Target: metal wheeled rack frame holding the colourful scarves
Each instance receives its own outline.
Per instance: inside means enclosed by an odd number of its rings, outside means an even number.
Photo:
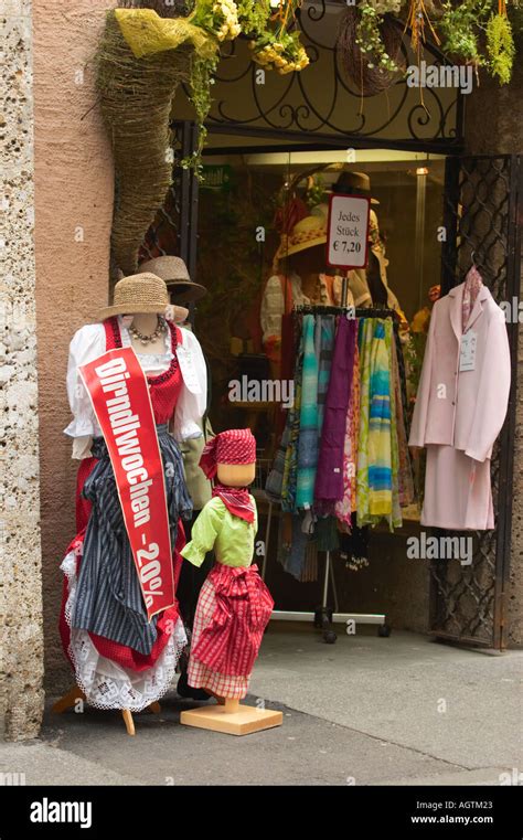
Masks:
[[[346,287],[343,289],[343,297],[346,300]],[[321,306],[313,304],[300,304],[292,309],[295,315],[349,315],[355,318],[393,318],[399,320],[394,309],[378,307],[348,307],[348,306]],[[270,539],[270,527],[273,520],[274,502],[269,500],[267,511],[267,525],[265,529],[265,554],[262,564],[262,578],[265,581],[267,568],[267,551]],[[331,584],[334,598],[334,608],[328,605],[329,602],[329,582]],[[386,624],[386,616],[383,613],[339,613],[338,612],[338,592],[334,580],[334,572],[331,562],[331,552],[325,552],[325,571],[323,575],[323,593],[321,605],[313,613],[289,612],[285,609],[274,609],[271,618],[279,621],[308,621],[312,620],[314,627],[323,630],[323,639],[328,645],[333,645],[337,640],[337,634],[332,629],[332,624],[345,624],[349,626],[357,624],[377,625],[378,635],[386,637],[391,635],[391,628]]]

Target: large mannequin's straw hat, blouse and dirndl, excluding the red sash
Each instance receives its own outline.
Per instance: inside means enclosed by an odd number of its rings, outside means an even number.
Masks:
[[[74,419],[65,432],[73,437],[73,457],[84,459],[78,470],[84,503],[78,508],[78,533],[61,566],[62,641],[87,702],[126,710],[128,730],[130,712],[150,706],[169,689],[186,639],[175,598],[152,616],[146,609],[114,468],[78,368],[108,350],[132,348],[147,376],[175,586],[184,544],[181,519],[192,511],[175,438],[201,435],[206,371],[195,337],[163,319],[168,304],[160,278],[127,277],[116,285],[115,304],[100,312],[100,322],[82,327],[70,348],[67,391]]]

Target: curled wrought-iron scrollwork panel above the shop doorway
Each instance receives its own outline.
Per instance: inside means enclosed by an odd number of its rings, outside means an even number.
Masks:
[[[340,0],[306,0],[298,12],[298,25],[310,65],[286,76],[269,72],[264,84],[258,84],[259,65],[252,61],[246,39],[225,44],[206,121],[211,136],[244,135],[269,143],[278,139],[302,143],[307,138],[318,148],[351,145],[459,152],[463,117],[459,89],[426,87],[423,104],[420,88],[409,87],[405,78],[398,78],[378,97],[362,96],[349,81],[337,45],[345,9]],[[425,53],[430,64],[446,63],[431,43],[426,44]],[[404,35],[402,54],[406,66],[417,64],[408,34]],[[188,97],[186,86],[183,89]],[[380,107],[375,107],[376,102]],[[224,152],[228,147],[206,151],[218,149]]]

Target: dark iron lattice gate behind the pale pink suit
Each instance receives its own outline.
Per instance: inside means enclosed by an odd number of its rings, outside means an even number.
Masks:
[[[494,300],[519,302],[521,194],[521,161],[515,156],[447,160],[441,294],[465,280],[473,256]],[[508,331],[512,390],[508,417],[491,460],[495,527],[473,534],[471,565],[433,562],[430,568],[433,635],[497,649],[506,647],[517,319],[510,320]],[[459,535],[470,536],[470,532]]]

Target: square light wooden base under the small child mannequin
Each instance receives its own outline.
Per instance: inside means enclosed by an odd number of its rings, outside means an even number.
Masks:
[[[252,732],[281,726],[284,713],[242,705],[239,700],[227,698],[223,705],[218,703],[182,712],[180,723],[185,726],[223,732],[226,735],[249,735]]]

